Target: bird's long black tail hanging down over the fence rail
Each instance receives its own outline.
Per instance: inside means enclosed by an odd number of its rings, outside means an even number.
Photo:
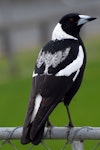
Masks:
[[[57,101],[53,104],[53,100],[53,98],[48,99],[48,101],[47,99],[43,100],[43,102],[45,102],[45,105],[43,105],[43,103],[41,104],[41,107],[38,110],[33,122],[28,124],[27,120],[29,120],[29,118],[26,118],[26,126],[24,125],[23,134],[21,138],[22,144],[28,144],[29,142],[31,142],[34,145],[38,145],[41,142],[41,140],[43,139],[44,128],[48,116],[58,104]]]

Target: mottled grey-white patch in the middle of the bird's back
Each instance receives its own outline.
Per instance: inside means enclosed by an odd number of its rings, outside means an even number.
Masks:
[[[42,64],[45,65],[44,74],[48,74],[48,69],[50,66],[56,68],[61,62],[63,62],[70,52],[70,47],[66,48],[65,51],[58,51],[54,54],[50,52],[42,52],[39,53],[37,59],[37,68],[40,68]]]

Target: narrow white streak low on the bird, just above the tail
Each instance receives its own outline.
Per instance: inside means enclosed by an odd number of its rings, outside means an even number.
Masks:
[[[35,99],[35,105],[34,105],[34,110],[32,113],[31,122],[34,121],[34,118],[35,118],[35,116],[38,112],[38,109],[40,107],[41,101],[42,101],[42,96],[40,94],[37,94],[36,99]]]

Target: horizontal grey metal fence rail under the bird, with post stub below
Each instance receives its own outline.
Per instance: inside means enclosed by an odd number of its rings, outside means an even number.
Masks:
[[[22,127],[0,127],[0,140],[20,139],[21,135]],[[52,127],[51,131],[45,128],[44,139],[66,139],[68,142],[62,150],[69,142],[72,143],[72,150],[83,150],[84,140],[100,140],[100,127]]]

